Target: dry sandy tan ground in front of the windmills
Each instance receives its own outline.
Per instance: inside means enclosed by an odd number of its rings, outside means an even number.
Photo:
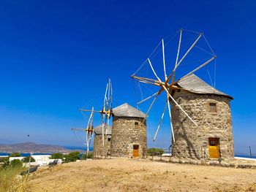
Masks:
[[[40,168],[29,191],[256,191],[256,169],[102,159]]]

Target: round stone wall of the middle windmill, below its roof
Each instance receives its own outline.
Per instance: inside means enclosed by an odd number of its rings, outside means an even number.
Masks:
[[[135,126],[135,122],[138,123]],[[133,145],[139,145],[139,157],[146,156],[146,122],[142,118],[113,118],[111,156],[132,157]]]

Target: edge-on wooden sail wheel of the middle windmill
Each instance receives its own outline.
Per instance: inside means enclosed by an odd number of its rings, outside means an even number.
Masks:
[[[104,135],[107,134],[109,124],[110,124],[110,118],[112,115],[112,108],[113,108],[113,89],[111,80],[108,80],[106,90],[105,90],[105,96],[103,101],[103,107],[102,110],[86,110],[86,109],[80,109],[81,112],[99,112],[101,115],[101,126],[102,126],[102,147],[104,147]]]

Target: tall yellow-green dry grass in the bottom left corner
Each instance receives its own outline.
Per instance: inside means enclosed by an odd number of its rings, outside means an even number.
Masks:
[[[1,167],[0,168],[0,192],[26,191],[28,177],[20,176],[23,167]]]

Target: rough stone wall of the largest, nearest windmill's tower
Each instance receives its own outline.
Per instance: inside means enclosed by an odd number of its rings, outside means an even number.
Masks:
[[[222,158],[233,158],[234,142],[230,99],[225,96],[179,91],[174,99],[195,120],[195,126],[176,104],[172,104],[173,156],[178,158],[208,158],[208,138],[219,138]],[[209,112],[209,103],[217,104],[217,112]]]

